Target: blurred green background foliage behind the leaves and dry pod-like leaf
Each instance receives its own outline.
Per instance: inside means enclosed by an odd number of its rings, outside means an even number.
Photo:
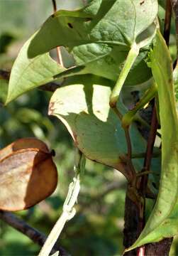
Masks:
[[[75,9],[84,1],[57,1],[58,8]],[[50,0],[0,1],[0,68],[11,70],[26,38],[50,14]],[[3,47],[2,47],[3,46]],[[67,58],[67,56],[65,56]],[[0,80],[0,102],[6,99],[6,80]],[[43,233],[50,232],[62,213],[62,204],[74,176],[74,145],[67,129],[48,117],[50,92],[33,90],[7,107],[0,106],[0,148],[22,137],[37,137],[55,149],[59,173],[55,193],[37,206],[16,213]],[[87,160],[77,215],[62,230],[59,242],[72,255],[121,255],[125,178],[118,171]],[[37,255],[40,247],[0,221],[0,255]]]

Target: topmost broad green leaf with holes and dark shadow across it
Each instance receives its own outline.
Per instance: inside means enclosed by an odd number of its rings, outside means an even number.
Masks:
[[[78,73],[92,73],[117,80],[133,44],[148,46],[155,35],[157,0],[91,1],[78,11],[57,11],[23,46],[13,65],[6,104],[19,95],[65,71],[48,55],[56,46],[65,46],[76,65],[85,65]],[[130,70],[127,85],[148,80],[147,52],[140,53]],[[67,74],[66,74],[67,75]]]

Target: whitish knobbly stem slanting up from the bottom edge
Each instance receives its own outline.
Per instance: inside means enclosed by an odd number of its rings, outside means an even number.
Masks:
[[[77,201],[77,197],[79,195],[80,189],[80,181],[79,175],[74,178],[73,182],[69,184],[69,191],[67,193],[67,198],[65,199],[65,203],[63,206],[62,215],[55,223],[55,226],[52,228],[50,235],[48,235],[45,244],[43,245],[42,249],[40,250],[39,256],[48,256],[52,250],[52,247],[55,245],[57,238],[59,238],[62,229],[65,226],[65,223],[72,219],[76,213],[74,208],[74,204]]]

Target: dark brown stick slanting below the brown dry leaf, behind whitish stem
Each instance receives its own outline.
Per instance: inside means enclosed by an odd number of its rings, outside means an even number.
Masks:
[[[0,219],[4,220],[4,222],[11,225],[11,227],[23,233],[28,238],[30,238],[30,240],[40,246],[42,246],[47,239],[47,237],[43,233],[40,233],[35,228],[30,227],[30,225],[28,225],[24,220],[17,218],[16,215],[12,213],[0,210]],[[61,246],[55,245],[52,249],[52,253],[55,253],[56,251],[60,251],[61,256],[69,256],[69,253],[66,252],[66,250]]]

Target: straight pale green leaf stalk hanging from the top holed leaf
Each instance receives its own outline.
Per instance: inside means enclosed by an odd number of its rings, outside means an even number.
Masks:
[[[133,66],[133,63],[135,62],[135,59],[138,57],[140,48],[136,43],[133,43],[133,46],[129,50],[128,56],[126,58],[126,62],[123,65],[123,69],[121,70],[121,73],[118,77],[118,80],[116,82],[116,85],[113,87],[113,91],[111,92],[111,97],[110,97],[110,106],[111,107],[116,107],[116,103],[118,101],[118,96],[121,92],[121,89],[123,87],[123,83],[125,82],[128,73],[130,69]]]

